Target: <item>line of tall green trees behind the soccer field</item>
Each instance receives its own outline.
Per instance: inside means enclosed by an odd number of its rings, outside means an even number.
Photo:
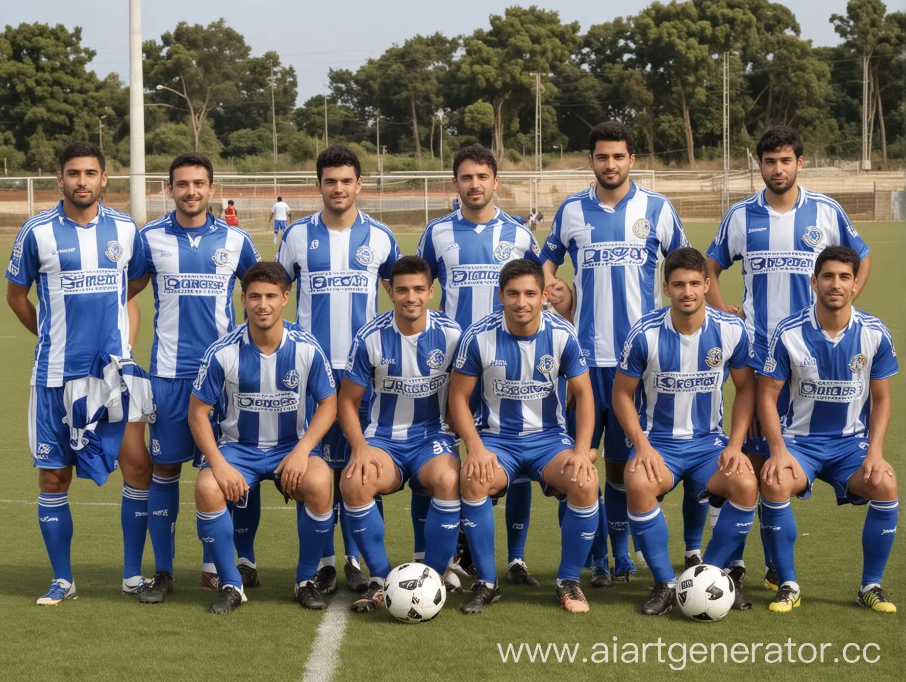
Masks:
[[[326,102],[321,94],[302,107],[279,53],[252,56],[224,19],[182,22],[142,46],[148,167],[198,149],[238,170],[271,170],[276,130],[278,167],[299,168],[323,149],[325,120],[326,141],[372,154],[380,144],[399,169],[439,168],[441,157],[448,167],[476,141],[518,162],[535,151],[538,82],[545,153],[582,151],[595,123],[618,119],[650,164],[694,167],[722,153],[725,60],[734,156],[784,123],[812,155],[859,158],[867,83],[875,158],[906,158],[906,13],[850,0],[828,21],[842,39],[834,47],[803,40],[795,14],[767,0],[654,2],[584,34],[554,10],[514,6],[492,14],[490,28],[415,35],[355,71],[331,69]],[[114,164],[129,165],[128,88],[115,73],[99,79],[94,56],[79,27],[5,27],[0,157],[9,168],[51,169],[72,139],[102,140]]]

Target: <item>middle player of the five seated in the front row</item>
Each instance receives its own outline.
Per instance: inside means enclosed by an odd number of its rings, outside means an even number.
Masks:
[[[546,495],[565,495],[556,594],[564,609],[589,610],[579,574],[598,527],[598,474],[589,458],[593,396],[573,325],[543,310],[541,266],[525,258],[500,271],[503,310],[479,320],[459,341],[450,382],[450,414],[466,444],[460,477],[462,525],[477,568],[463,613],[480,613],[500,599],[494,559],[491,495],[522,476]],[[481,405],[469,400],[478,380]],[[564,381],[575,395],[577,437],[564,423]]]

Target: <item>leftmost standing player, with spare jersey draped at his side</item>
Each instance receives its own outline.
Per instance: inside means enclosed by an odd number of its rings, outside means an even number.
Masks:
[[[57,185],[63,200],[27,220],[16,235],[6,268],[6,302],[26,330],[38,337],[34,351],[28,441],[38,468],[38,524],[53,567],[50,590],[38,604],[75,599],[70,546],[69,486],[76,456],[70,447],[64,385],[89,375],[100,352],[130,358],[127,279],[144,274],[139,229],[130,216],[98,200],[107,185],[104,155],[91,142],[73,142],[60,155]],[[28,300],[37,283],[38,306]],[[108,430],[109,429],[109,430]],[[120,450],[123,476],[122,590],[140,590],[141,555],[148,528],[151,463],[144,425],[101,422],[95,433],[104,450]],[[119,432],[119,437],[114,434]],[[112,462],[108,463],[112,466]],[[76,466],[77,474],[82,473]]]

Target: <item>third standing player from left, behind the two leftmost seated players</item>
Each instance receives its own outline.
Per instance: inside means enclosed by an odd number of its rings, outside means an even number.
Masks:
[[[277,250],[277,262],[296,286],[296,322],[312,331],[333,366],[333,377],[342,385],[352,339],[378,314],[379,281],[387,288],[390,268],[400,258],[400,246],[390,228],[355,206],[361,192],[361,165],[348,147],[324,149],[315,162],[316,187],[323,210],[289,226]],[[366,391],[360,416],[367,414]],[[339,424],[323,442],[323,457],[333,469],[342,469],[349,458],[349,443]],[[334,502],[346,557],[343,571],[353,591],[368,588],[359,567],[359,550],[346,524],[340,504],[340,478],[334,481]],[[323,593],[336,590],[333,534],[324,550],[316,582]]]

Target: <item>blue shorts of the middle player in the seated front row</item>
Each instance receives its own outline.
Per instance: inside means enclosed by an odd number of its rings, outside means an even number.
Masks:
[[[541,484],[545,495],[554,495],[545,484],[545,466],[564,450],[575,447],[573,438],[558,428],[529,436],[508,436],[482,433],[481,442],[497,456],[497,462],[506,472],[506,485],[519,478],[530,478]]]

